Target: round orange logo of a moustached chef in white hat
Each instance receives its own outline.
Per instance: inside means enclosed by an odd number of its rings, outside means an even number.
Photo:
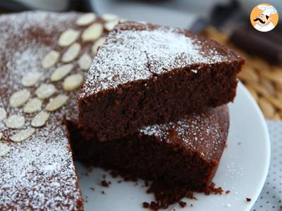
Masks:
[[[278,12],[270,4],[259,4],[252,9],[250,20],[252,26],[259,32],[269,32],[278,23]]]

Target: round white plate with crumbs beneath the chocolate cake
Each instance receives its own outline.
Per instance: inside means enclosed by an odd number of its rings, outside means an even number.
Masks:
[[[185,208],[171,205],[168,210],[250,210],[257,200],[264,181],[270,160],[270,143],[264,117],[255,100],[242,84],[238,86],[235,103],[229,105],[231,128],[228,135],[228,146],[223,153],[219,169],[214,177],[216,186],[222,186],[231,193],[221,196],[204,196],[195,194],[197,200],[183,199],[188,203]],[[118,183],[104,170],[94,169],[88,176],[85,168],[78,163],[78,175],[82,196],[87,199],[85,210],[145,210],[142,202],[154,200],[152,195],[142,188],[143,181],[135,186],[134,182]],[[102,175],[111,181],[109,188],[100,185]],[[94,188],[92,191],[90,187]],[[105,191],[106,194],[101,192]],[[247,203],[245,198],[251,198]],[[190,207],[192,203],[193,207]]]

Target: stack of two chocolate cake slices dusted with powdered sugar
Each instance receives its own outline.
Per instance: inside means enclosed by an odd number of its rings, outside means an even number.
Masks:
[[[79,124],[68,124],[75,155],[152,181],[157,207],[207,191],[242,65],[231,49],[185,30],[118,24],[80,90]]]

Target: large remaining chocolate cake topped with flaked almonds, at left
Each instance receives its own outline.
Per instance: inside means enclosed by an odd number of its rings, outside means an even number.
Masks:
[[[78,119],[77,90],[104,23],[94,14],[0,15],[0,210],[83,210],[63,120]],[[91,24],[100,30],[85,32]]]

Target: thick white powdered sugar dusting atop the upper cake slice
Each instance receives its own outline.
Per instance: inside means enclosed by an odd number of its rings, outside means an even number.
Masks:
[[[203,50],[203,44],[183,30],[120,23],[94,58],[80,98],[174,68],[226,60],[212,46]]]

